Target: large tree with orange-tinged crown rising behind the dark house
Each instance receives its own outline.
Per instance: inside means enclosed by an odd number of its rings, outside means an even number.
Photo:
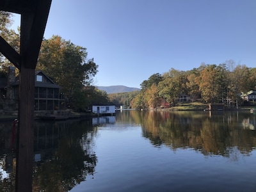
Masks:
[[[74,45],[60,36],[52,36],[42,42],[37,70],[54,78],[62,86],[62,92],[72,106],[74,93],[79,93],[84,85],[92,83],[98,65],[86,60],[86,48]]]

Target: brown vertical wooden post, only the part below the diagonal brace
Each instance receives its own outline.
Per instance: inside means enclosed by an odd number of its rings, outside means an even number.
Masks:
[[[20,68],[16,191],[32,191],[35,69]]]

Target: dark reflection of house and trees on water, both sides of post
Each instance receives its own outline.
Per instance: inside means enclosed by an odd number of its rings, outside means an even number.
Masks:
[[[90,120],[35,122],[33,191],[68,191],[93,175],[97,164]],[[12,122],[0,124],[0,189],[15,191]]]

